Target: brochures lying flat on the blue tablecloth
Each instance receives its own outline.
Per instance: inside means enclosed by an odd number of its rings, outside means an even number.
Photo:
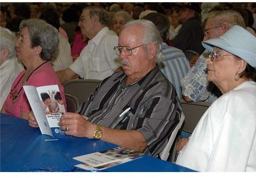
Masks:
[[[119,146],[103,152],[77,156],[73,159],[83,162],[82,164],[75,165],[81,169],[102,170],[137,158],[142,158],[141,155],[143,155],[143,153]]]

